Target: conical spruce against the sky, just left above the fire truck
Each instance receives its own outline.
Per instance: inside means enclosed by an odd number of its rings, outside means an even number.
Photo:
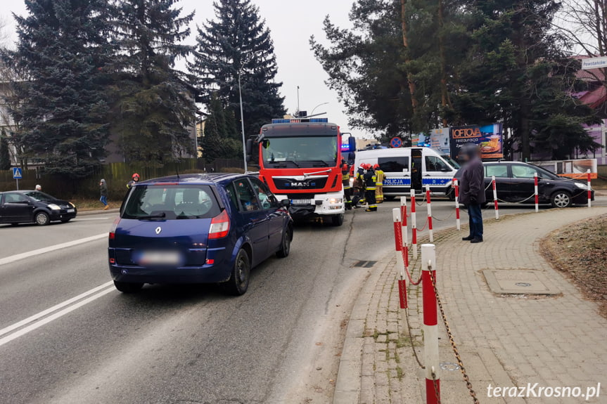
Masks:
[[[285,110],[275,82],[277,67],[270,32],[250,0],[219,0],[216,20],[198,28],[195,60],[189,65],[207,105],[212,93],[235,112],[240,127],[238,76],[241,76],[245,133],[259,133]]]

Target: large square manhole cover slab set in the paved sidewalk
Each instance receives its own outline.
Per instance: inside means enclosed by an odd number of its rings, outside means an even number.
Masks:
[[[532,269],[485,269],[485,280],[497,294],[561,294],[543,271]]]

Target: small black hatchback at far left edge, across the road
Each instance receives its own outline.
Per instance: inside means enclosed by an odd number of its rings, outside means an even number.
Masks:
[[[0,223],[63,223],[74,219],[77,209],[72,202],[58,200],[40,191],[19,190],[0,193]]]

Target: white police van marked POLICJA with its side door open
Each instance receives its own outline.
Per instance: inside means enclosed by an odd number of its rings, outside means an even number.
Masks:
[[[385,172],[383,195],[391,199],[426,190],[437,195],[452,195],[452,180],[459,164],[448,155],[430,148],[397,148],[362,150],[356,152],[354,171],[360,164],[379,164]]]

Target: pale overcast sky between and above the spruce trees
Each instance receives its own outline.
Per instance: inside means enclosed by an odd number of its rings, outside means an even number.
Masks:
[[[16,39],[15,25],[12,13],[25,15],[25,3],[23,0],[3,0],[2,17],[9,23],[8,30]],[[327,112],[326,117],[331,122],[341,126],[342,131],[351,131],[356,136],[369,136],[357,129],[350,129],[347,125],[347,117],[343,113],[343,105],[338,102],[337,94],[327,88],[324,81],[327,74],[314,58],[309,48],[309,37],[313,34],[321,42],[326,41],[322,30],[322,22],[325,15],[330,15],[331,20],[339,27],[350,27],[348,13],[352,6],[352,0],[307,0],[307,1],[285,1],[285,0],[252,0],[252,3],[260,8],[260,15],[266,20],[267,27],[271,31],[276,48],[276,59],[278,61],[279,73],[276,79],[283,82],[281,89],[285,97],[285,106],[288,112],[295,112],[298,107],[298,91],[300,86],[300,108],[308,113],[321,103],[315,110]],[[178,6],[185,13],[196,10],[192,23],[192,35],[187,41],[194,44],[196,35],[196,24],[215,17],[213,13],[212,0],[181,0]]]

